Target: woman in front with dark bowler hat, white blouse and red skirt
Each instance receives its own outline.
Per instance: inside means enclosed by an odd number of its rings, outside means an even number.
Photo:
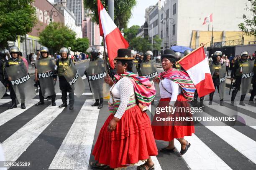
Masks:
[[[110,116],[100,130],[92,155],[94,168],[122,168],[146,160],[138,170],[154,170],[150,156],[158,154],[151,123],[145,107],[151,104],[156,90],[146,77],[132,72],[131,50],[119,49],[115,82],[105,77],[110,87]],[[140,106],[140,107],[139,107]]]

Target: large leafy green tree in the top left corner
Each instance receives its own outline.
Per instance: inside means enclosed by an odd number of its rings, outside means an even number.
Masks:
[[[24,40],[36,24],[34,0],[0,0],[0,47],[8,47],[8,41]]]

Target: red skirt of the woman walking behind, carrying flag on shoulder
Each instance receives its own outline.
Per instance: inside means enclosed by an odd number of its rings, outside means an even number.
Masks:
[[[161,99],[157,107],[169,106],[170,100],[170,98]],[[175,102],[175,107],[190,108],[189,103],[186,101],[182,94],[178,95],[177,101]],[[184,138],[184,136],[191,136],[192,133],[195,133],[193,121],[175,122],[175,117],[177,116],[191,117],[192,115],[190,114],[190,112],[174,112],[174,114],[170,116],[174,117],[174,121],[172,121],[171,123],[168,121],[162,121],[160,125],[159,122],[156,121],[156,117],[168,117],[168,115],[166,115],[165,112],[161,112],[159,115],[154,115],[151,127],[153,130],[154,138],[156,140],[171,141],[174,140],[174,138]]]

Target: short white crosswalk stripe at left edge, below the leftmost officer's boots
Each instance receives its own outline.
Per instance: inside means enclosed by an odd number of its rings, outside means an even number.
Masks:
[[[17,108],[10,109],[10,110],[5,110],[0,114],[0,126],[8,122],[9,120],[13,119],[14,117],[20,115],[21,113],[25,112],[28,110],[30,107],[35,105],[39,100],[34,99],[30,100],[28,103],[26,103],[26,109],[21,109],[19,106],[20,104],[17,105]]]

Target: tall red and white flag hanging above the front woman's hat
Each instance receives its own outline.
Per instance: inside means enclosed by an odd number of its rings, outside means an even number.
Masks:
[[[112,68],[114,58],[117,57],[117,51],[120,48],[128,48],[129,43],[125,40],[120,30],[117,28],[113,20],[108,15],[100,0],[97,0],[98,14],[100,23],[100,36],[104,36],[105,44],[108,49],[109,63]]]

